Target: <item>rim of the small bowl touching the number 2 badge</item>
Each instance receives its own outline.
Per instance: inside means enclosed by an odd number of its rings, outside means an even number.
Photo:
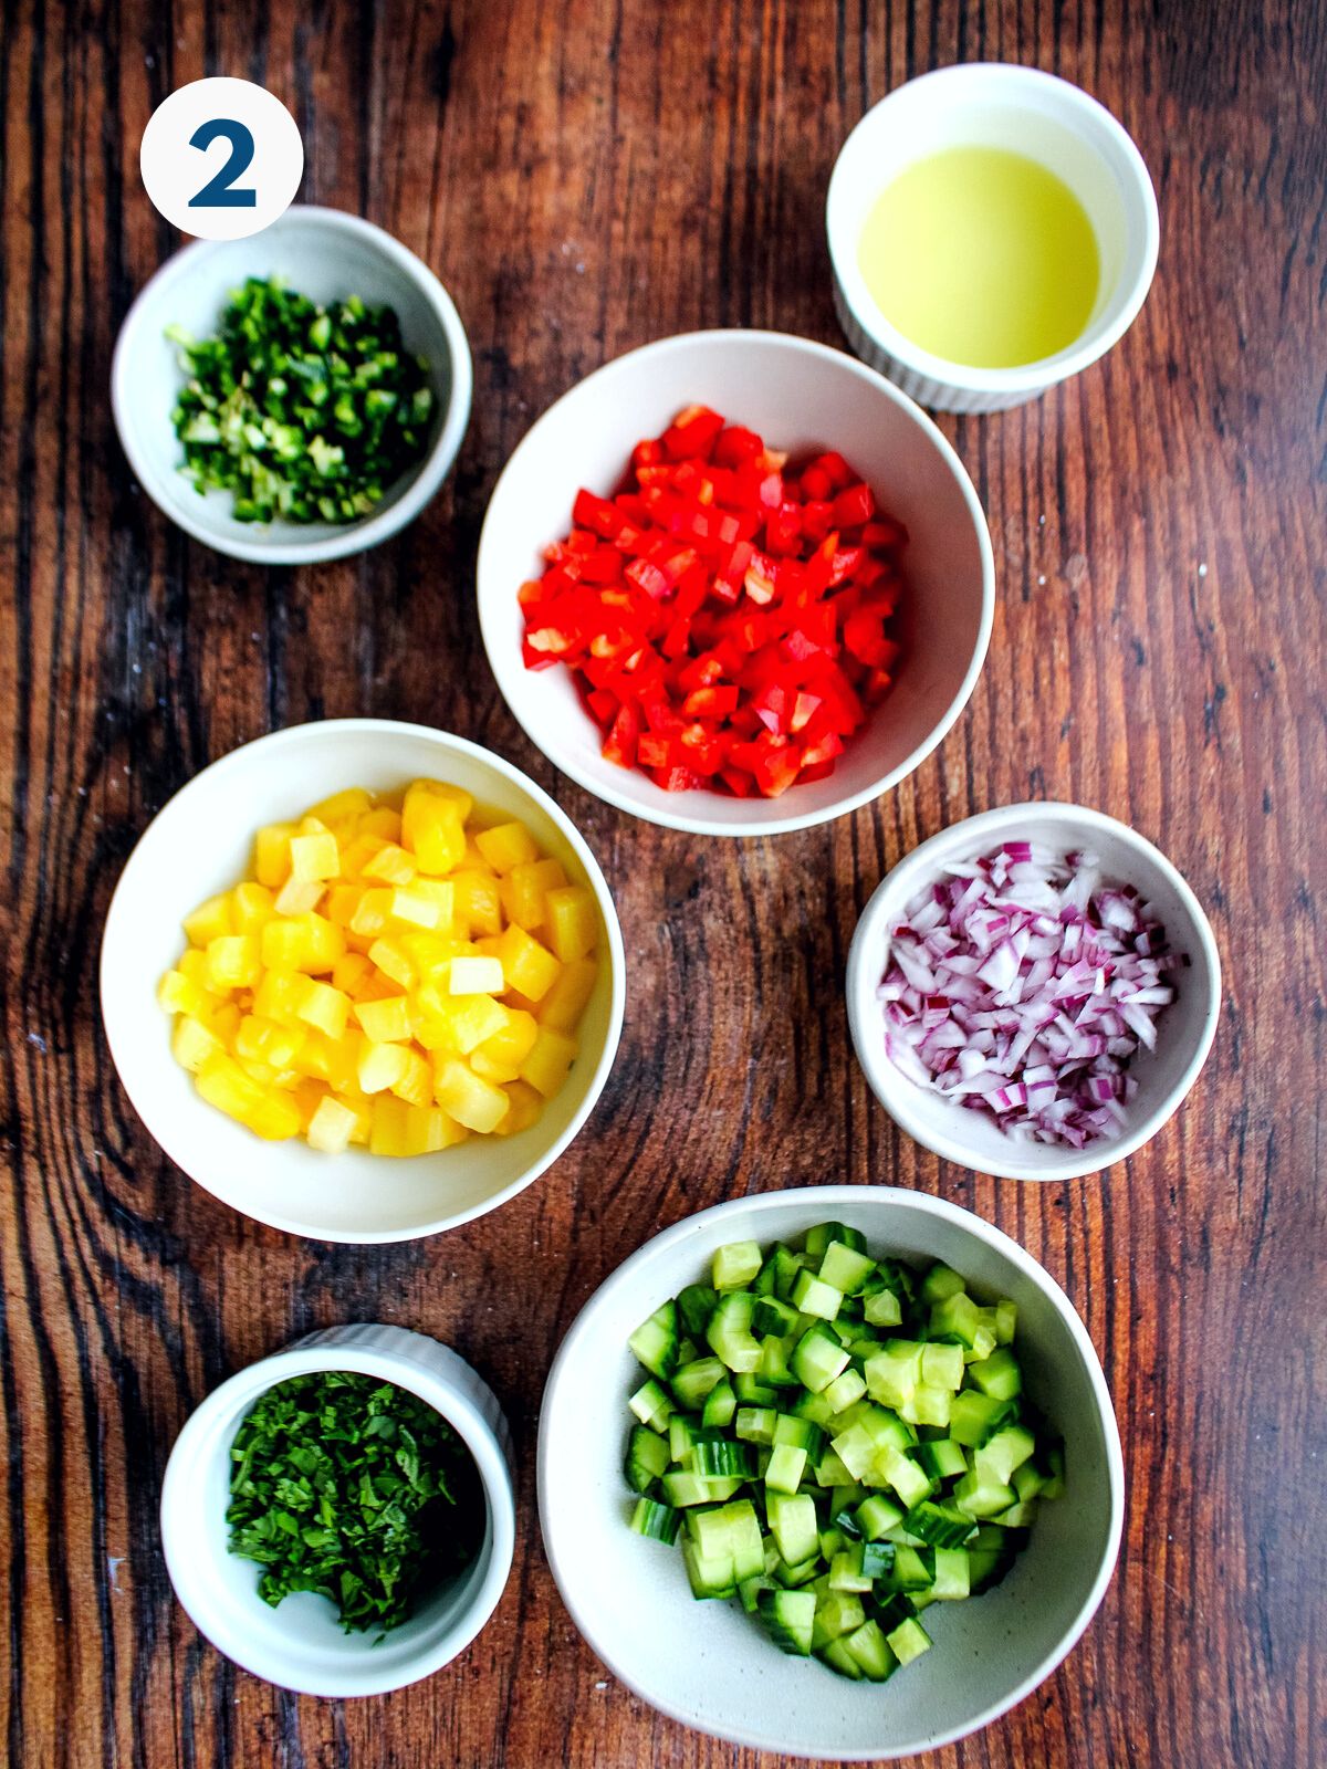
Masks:
[[[223,248],[230,249],[239,244],[237,241],[196,239],[173,251],[166,262],[161,264],[152,276],[149,276],[120,322],[120,331],[115,338],[115,350],[111,354],[110,393],[115,433],[120,439],[120,448],[126,453],[129,469],[163,517],[173,522],[179,529],[184,529],[184,532],[193,536],[193,540],[202,541],[205,547],[211,547],[214,552],[225,554],[230,559],[244,559],[253,564],[294,566],[320,564],[329,559],[345,559],[350,554],[368,552],[370,547],[377,547],[380,541],[389,540],[407,524],[414,522],[421,509],[437,494],[460,451],[460,444],[471,421],[474,368],[471,363],[471,347],[465,338],[465,327],[462,325],[451,295],[428,269],[423,258],[387,234],[386,228],[377,226],[373,221],[366,221],[363,216],[350,214],[345,209],[329,209],[320,203],[290,203],[290,207],[271,223],[271,228],[264,228],[264,234],[269,234],[272,228],[285,226],[295,230],[315,226],[329,228],[331,232],[350,235],[359,248],[368,248],[370,251],[377,251],[380,257],[391,260],[391,264],[419,288],[442,327],[442,334],[448,343],[448,356],[451,359],[451,394],[448,398],[448,409],[437,439],[428,453],[419,460],[416,478],[405,486],[400,497],[391,499],[373,515],[361,517],[357,522],[347,522],[336,534],[329,534],[322,540],[290,540],[278,543],[271,538],[249,538],[255,532],[253,525],[235,522],[234,518],[230,518],[230,527],[235,532],[219,536],[198,522],[188,504],[177,508],[165,497],[165,494],[159,495],[161,476],[156,465],[138,448],[134,426],[124,416],[133,403],[133,347],[142,325],[145,324],[147,299],[149,295],[161,294],[161,290],[168,290],[177,281],[184,281],[200,264],[205,262],[205,258]],[[163,414],[163,423],[170,423],[168,412]]]

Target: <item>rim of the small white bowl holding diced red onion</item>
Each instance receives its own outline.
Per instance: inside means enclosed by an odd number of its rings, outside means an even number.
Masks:
[[[947,1136],[943,1130],[934,1129],[934,1125],[913,1111],[909,1095],[913,1083],[908,1083],[908,1077],[901,1076],[894,1063],[890,1063],[890,1060],[883,1054],[883,1044],[878,1049],[869,1037],[867,1014],[876,1007],[874,987],[879,978],[872,980],[869,976],[867,952],[878,946],[878,929],[879,922],[885,920],[886,911],[899,907],[901,902],[906,902],[908,897],[911,897],[925,881],[925,877],[934,874],[941,862],[941,854],[947,854],[952,849],[963,851],[970,846],[973,851],[980,851],[987,840],[1005,833],[1010,826],[1017,828],[1024,824],[1028,817],[1046,816],[1051,819],[1074,817],[1079,823],[1086,823],[1102,835],[1109,835],[1124,842],[1125,847],[1141,854],[1157,869],[1157,872],[1161,872],[1178,897],[1180,907],[1189,918],[1193,941],[1201,948],[1207,962],[1207,1008],[1193,1056],[1185,1063],[1178,1081],[1161,1104],[1155,1106],[1147,1116],[1139,1118],[1132,1129],[1125,1130],[1118,1137],[1095,1145],[1090,1143],[1081,1150],[1067,1150],[1060,1160],[1042,1164],[1019,1160],[1014,1153],[1019,1145],[1010,1143],[1009,1159],[1001,1160],[998,1168],[993,1168],[984,1162],[975,1162],[973,1152],[964,1143],[957,1137]],[[1136,1153],[1143,1143],[1148,1143],[1180,1109],[1208,1058],[1217,1022],[1221,1019],[1221,952],[1216,943],[1216,934],[1212,932],[1212,923],[1207,918],[1207,911],[1194,895],[1193,886],[1178,867],[1168,860],[1166,854],[1162,854],[1161,849],[1155,847],[1145,835],[1139,835],[1138,830],[1131,828],[1127,823],[1109,817],[1104,810],[1093,810],[1088,805],[1074,805],[1067,800],[1026,800],[1019,805],[996,805],[991,810],[978,812],[975,817],[963,817],[959,823],[950,823],[943,830],[936,830],[934,835],[918,842],[911,853],[904,854],[902,860],[899,860],[899,863],[885,874],[867,899],[867,904],[858,916],[856,929],[853,930],[853,941],[848,950],[844,989],[848,998],[848,1026],[853,1037],[853,1051],[856,1053],[858,1065],[862,1067],[862,1074],[865,1076],[871,1091],[876,1095],[890,1118],[894,1118],[899,1129],[906,1130],[913,1141],[922,1145],[922,1148],[929,1148],[931,1153],[940,1155],[941,1160],[952,1160],[971,1173],[991,1173],[1000,1180],[1040,1180],[1053,1183],[1058,1180],[1081,1180],[1092,1173],[1101,1173],[1104,1168],[1115,1166],[1116,1160],[1125,1160],[1129,1155]]]

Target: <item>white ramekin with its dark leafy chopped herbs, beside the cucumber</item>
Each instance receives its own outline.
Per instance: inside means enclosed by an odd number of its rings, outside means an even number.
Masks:
[[[239,1371],[166,1465],[175,1596],[244,1670],[384,1695],[449,1663],[515,1544],[511,1438],[487,1383],[402,1327],[333,1327]]]

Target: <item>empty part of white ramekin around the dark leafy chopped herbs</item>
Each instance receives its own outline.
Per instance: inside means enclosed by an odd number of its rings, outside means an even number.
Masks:
[[[352,1369],[418,1394],[464,1438],[483,1484],[488,1516],[474,1560],[380,1640],[343,1633],[334,1606],[313,1592],[271,1608],[258,1596],[262,1569],[226,1548],[235,1433],[260,1394],[313,1369]],[[386,1695],[464,1652],[497,1608],[515,1546],[511,1433],[488,1383],[437,1339],[329,1327],[241,1369],[186,1421],[161,1486],[161,1544],[175,1596],[218,1652],[301,1695]]]

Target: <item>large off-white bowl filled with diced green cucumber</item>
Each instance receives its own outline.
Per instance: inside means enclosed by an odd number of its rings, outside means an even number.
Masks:
[[[800,1757],[906,1757],[1023,1700],[1115,1569],[1120,1435],[1072,1304],[938,1198],[821,1185],[656,1235],[568,1332],[540,1521],[646,1702]]]

